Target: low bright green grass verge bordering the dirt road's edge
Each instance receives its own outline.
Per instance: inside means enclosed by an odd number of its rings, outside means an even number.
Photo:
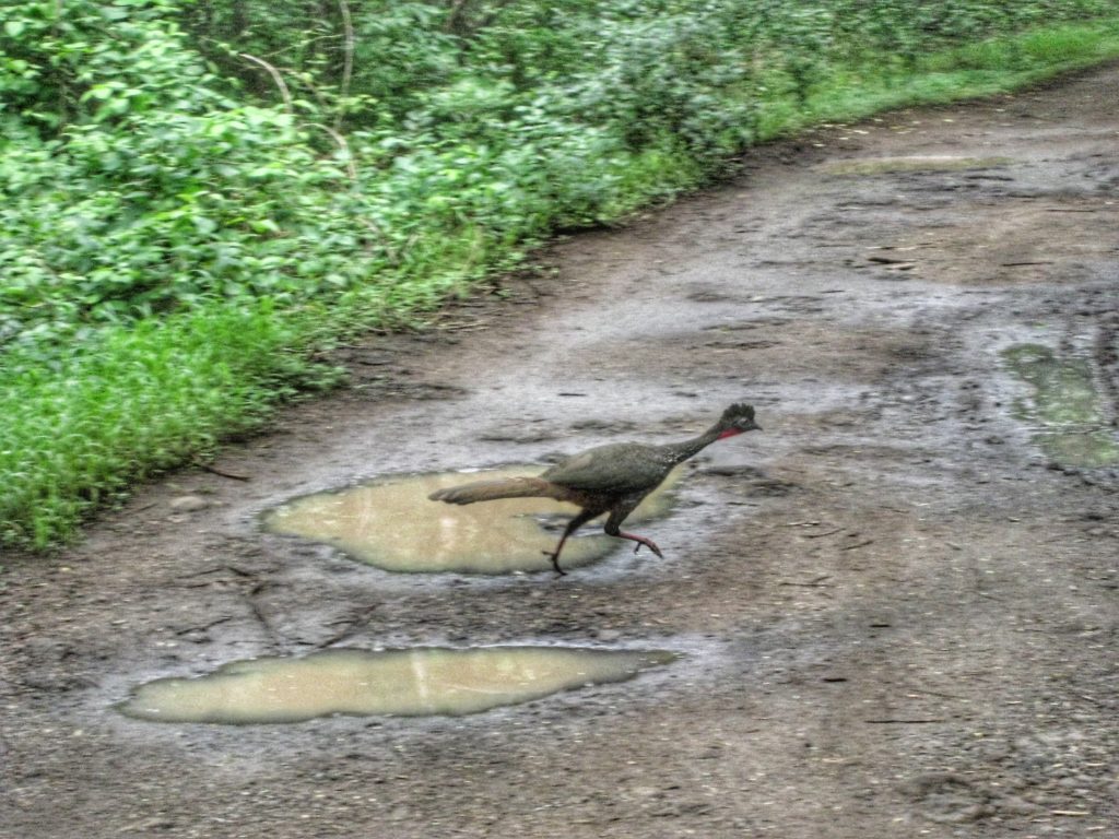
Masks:
[[[888,109],[989,96],[1119,57],[1119,19],[1037,29],[955,47],[916,66],[861,60],[836,67],[801,100],[774,79],[759,103],[759,140]],[[709,177],[698,162],[651,149],[619,173],[605,214],[622,218],[653,197]],[[10,349],[0,370],[0,545],[48,548],[135,481],[258,428],[270,411],[337,375],[308,359],[361,329],[399,323],[530,243],[464,228],[412,243],[374,291],[326,305],[279,310],[213,303],[187,315],[107,327],[73,355]]]

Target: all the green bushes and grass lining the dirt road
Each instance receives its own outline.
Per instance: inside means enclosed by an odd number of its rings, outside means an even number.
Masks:
[[[0,545],[751,144],[1116,56],[1119,0],[11,0]]]

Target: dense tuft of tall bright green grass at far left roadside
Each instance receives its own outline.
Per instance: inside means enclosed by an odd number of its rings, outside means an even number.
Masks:
[[[46,547],[129,480],[246,431],[322,371],[267,305],[109,327],[49,365],[22,349],[0,380],[0,544]]]

